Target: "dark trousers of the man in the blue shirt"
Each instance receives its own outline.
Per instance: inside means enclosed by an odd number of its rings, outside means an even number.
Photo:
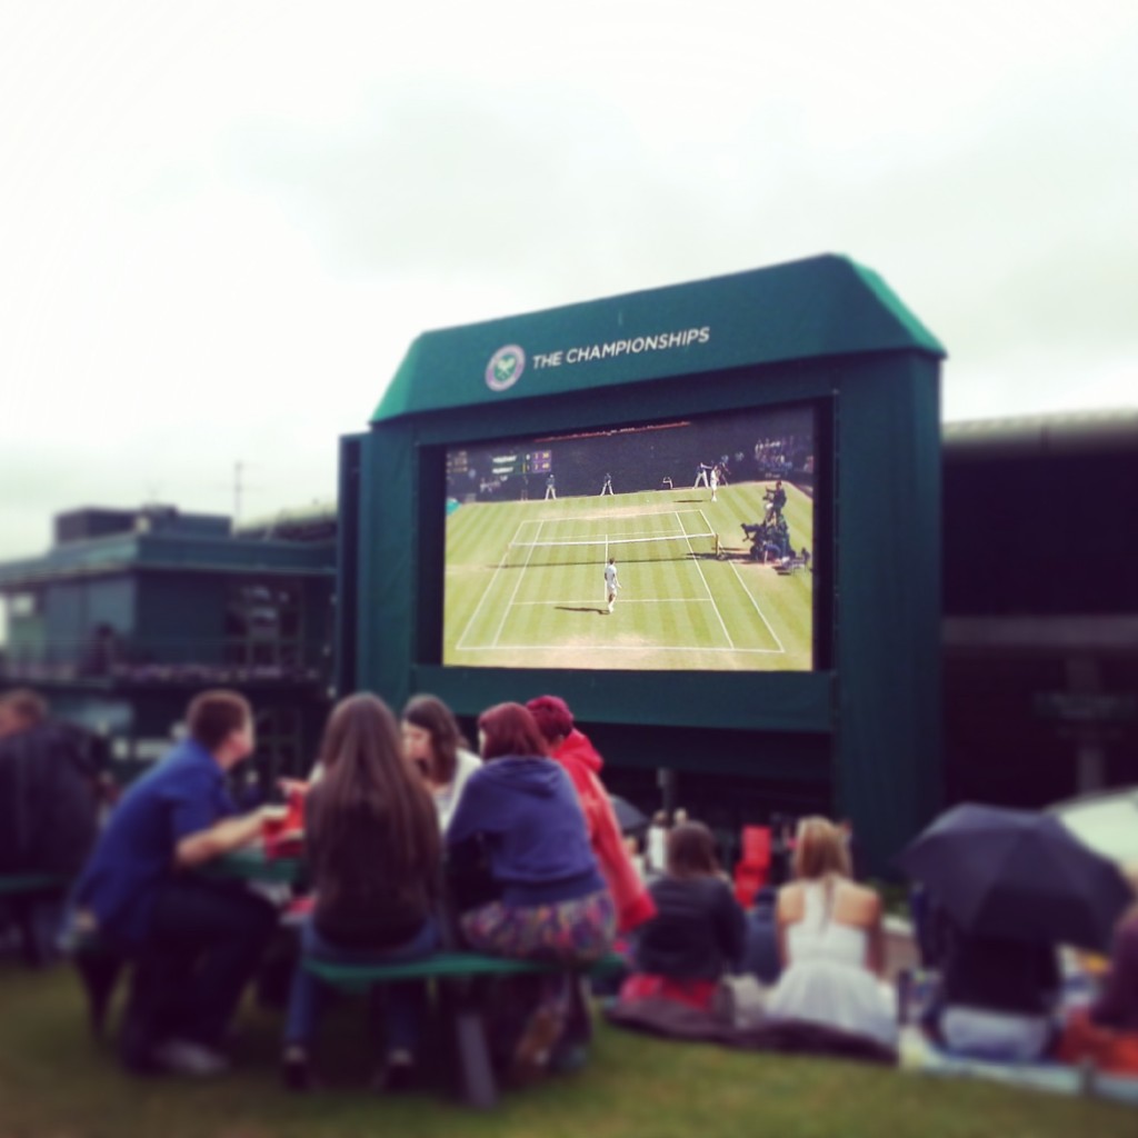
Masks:
[[[239,882],[187,877],[164,887],[134,967],[127,1065],[145,1067],[165,1038],[220,1046],[275,927],[273,906]]]

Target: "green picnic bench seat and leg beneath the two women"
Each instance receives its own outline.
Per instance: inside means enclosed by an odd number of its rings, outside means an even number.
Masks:
[[[554,963],[511,960],[480,953],[445,951],[418,960],[393,964],[331,964],[305,956],[302,967],[332,988],[354,992],[399,980],[454,981],[451,998],[440,1004],[450,1020],[448,1028],[459,1063],[461,1096],[469,1106],[488,1108],[497,1102],[497,1082],[486,1041],[484,1007],[471,986],[461,982],[478,976],[555,974],[567,971],[595,976],[620,971],[626,967],[626,962],[617,953],[609,953],[592,965],[569,970]]]

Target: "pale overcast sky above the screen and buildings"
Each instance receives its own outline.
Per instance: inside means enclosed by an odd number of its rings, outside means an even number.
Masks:
[[[422,330],[843,253],[948,419],[1138,404],[1133,0],[0,0],[0,560],[329,500]]]

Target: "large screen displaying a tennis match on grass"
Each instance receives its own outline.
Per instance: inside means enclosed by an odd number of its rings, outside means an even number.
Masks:
[[[443,663],[806,671],[815,411],[446,451]]]

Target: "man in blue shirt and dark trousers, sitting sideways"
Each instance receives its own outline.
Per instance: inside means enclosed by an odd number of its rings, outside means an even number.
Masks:
[[[254,749],[236,692],[204,692],[189,737],[123,795],[79,881],[83,920],[137,959],[123,1058],[141,1070],[214,1074],[220,1045],[277,924],[264,898],[196,873],[255,839],[264,811],[236,816],[224,776]]]

